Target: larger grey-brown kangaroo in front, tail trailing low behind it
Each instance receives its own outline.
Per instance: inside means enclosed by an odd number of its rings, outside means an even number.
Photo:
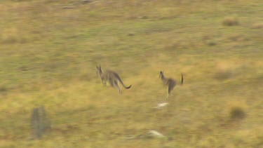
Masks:
[[[119,94],[122,93],[119,83],[121,83],[121,85],[126,89],[131,87],[131,85],[128,87],[124,86],[123,81],[121,81],[119,74],[117,74],[112,70],[107,69],[105,70],[105,72],[102,73],[102,67],[98,66],[97,74],[100,76],[100,79],[102,79],[103,86],[106,86],[106,83],[108,82],[112,87],[117,88],[119,90]]]

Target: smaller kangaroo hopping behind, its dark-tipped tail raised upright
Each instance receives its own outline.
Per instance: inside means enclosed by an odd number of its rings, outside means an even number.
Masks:
[[[168,86],[168,96],[169,96],[170,93],[172,92],[173,88],[175,88],[175,86],[176,86],[176,81],[174,79],[172,79],[172,78],[166,78],[163,75],[163,71],[160,72],[159,77],[163,81],[163,85],[164,86]],[[181,85],[182,85],[182,83],[184,83],[184,77],[183,76],[182,76],[182,79],[181,79]],[[168,98],[168,96],[166,98]]]

